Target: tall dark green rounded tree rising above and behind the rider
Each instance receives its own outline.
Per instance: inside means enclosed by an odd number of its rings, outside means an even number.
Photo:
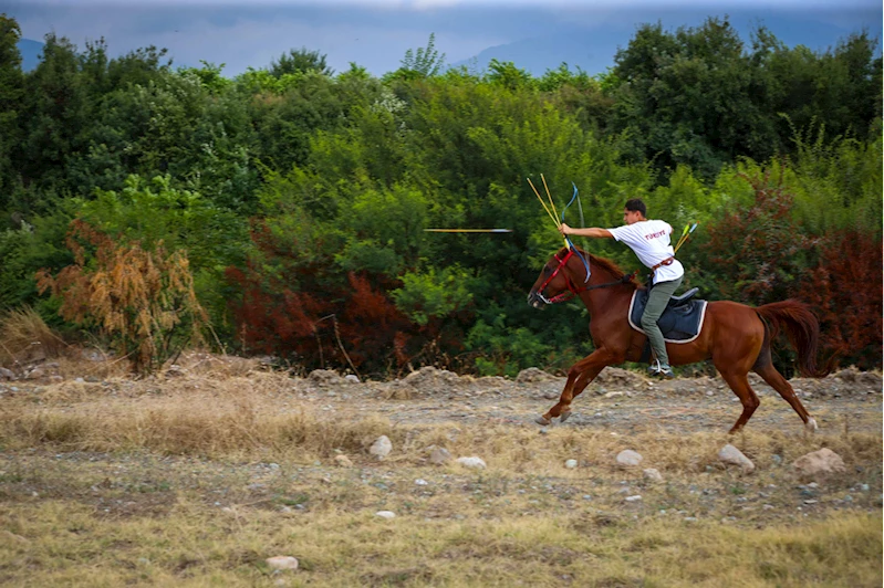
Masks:
[[[685,164],[710,180],[736,157],[772,155],[757,72],[727,19],[674,33],[645,24],[615,62],[613,130],[627,133],[658,170]]]

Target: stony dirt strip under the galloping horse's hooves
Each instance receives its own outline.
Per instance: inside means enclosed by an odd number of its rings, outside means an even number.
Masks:
[[[776,390],[749,376],[761,400],[748,427],[800,431],[801,419]],[[516,380],[460,377],[431,367],[392,382],[347,382],[318,370],[303,392],[323,410],[379,412],[398,423],[487,422],[538,428],[533,419],[559,399],[565,378],[527,369]],[[823,379],[795,378],[791,385],[817,419],[820,434],[882,430],[882,378],[853,368]],[[396,402],[396,400],[401,400]],[[552,427],[605,429],[628,434],[649,424],[669,433],[726,432],[741,405],[720,378],[651,380],[625,369],[605,368],[572,403],[573,413]]]

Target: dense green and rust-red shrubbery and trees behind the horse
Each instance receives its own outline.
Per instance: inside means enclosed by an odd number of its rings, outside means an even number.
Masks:
[[[41,297],[35,274],[74,264],[77,221],[105,253],[186,252],[228,349],[374,375],[566,367],[591,349],[585,311],[524,304],[560,244],[526,182],[543,174],[560,209],[580,188],[587,225],[620,224],[636,196],[676,229],[700,222],[685,286],[810,302],[843,363],[880,365],[882,76],[864,33],[815,54],[717,20],[648,25],[596,77],[444,71],[430,40],[382,78],[300,50],[232,80],[53,34],[22,73],[19,35],[0,17],[0,306],[62,332],[76,301]],[[76,255],[81,276],[107,271],[94,246]]]

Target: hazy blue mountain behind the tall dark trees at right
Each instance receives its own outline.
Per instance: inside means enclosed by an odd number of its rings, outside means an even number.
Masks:
[[[724,14],[718,17],[719,19],[724,18]],[[555,70],[564,62],[572,72],[580,67],[590,75],[595,75],[614,65],[617,50],[628,46],[637,28],[643,22],[656,23],[659,21],[665,30],[675,31],[682,25],[698,27],[706,18],[707,14],[695,13],[659,19],[648,18],[631,24],[621,21],[565,25],[549,34],[488,48],[474,57],[453,63],[451,66],[464,65],[474,73],[481,73],[488,69],[488,63],[496,59],[500,62],[511,61],[517,67],[526,70],[531,75],[540,76],[547,70]],[[825,51],[829,48],[834,48],[850,33],[859,33],[862,30],[861,27],[836,25],[812,11],[802,17],[798,17],[795,13],[777,12],[731,14],[729,21],[740,34],[747,49],[751,48],[750,33],[758,28],[759,23],[767,27],[786,45],[790,48],[805,45],[812,51]],[[854,27],[856,22],[853,21]],[[859,22],[865,24],[863,21]],[[870,21],[867,30],[880,40],[881,35],[874,33],[873,24]]]

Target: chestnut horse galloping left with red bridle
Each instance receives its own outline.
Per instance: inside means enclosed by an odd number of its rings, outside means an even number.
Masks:
[[[647,337],[633,329],[627,321],[630,302],[636,288],[633,281],[611,261],[579,251],[562,249],[543,266],[528,294],[528,304],[542,308],[547,304],[579,296],[590,312],[590,335],[595,350],[569,370],[568,381],[555,403],[537,422],[549,424],[553,418],[564,422],[571,414],[571,401],[605,366],[638,361]],[[820,326],[808,305],[797,301],[774,302],[757,308],[730,301],[709,302],[699,335],[690,343],[666,344],[669,363],[675,366],[711,358],[716,369],[742,402],[742,413],[730,429],[742,428],[760,403],[747,378],[755,371],[777,390],[798,412],[809,431],[817,421],[808,413],[791,385],[773,367],[770,345],[780,329],[798,350],[798,371],[802,376],[822,378],[831,369],[817,366]]]

